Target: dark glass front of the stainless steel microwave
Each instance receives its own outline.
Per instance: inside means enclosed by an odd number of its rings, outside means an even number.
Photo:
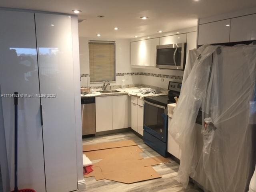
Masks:
[[[156,63],[158,65],[175,66],[174,52],[176,48],[157,49]],[[175,61],[177,66],[180,66],[182,48],[179,47],[175,54]]]

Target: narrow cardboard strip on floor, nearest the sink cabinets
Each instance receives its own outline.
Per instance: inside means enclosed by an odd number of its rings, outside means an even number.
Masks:
[[[101,149],[127,147],[127,146],[134,146],[134,145],[136,145],[136,143],[133,140],[124,140],[124,141],[118,141],[118,142],[106,142],[106,143],[99,143],[99,144],[92,144],[92,145],[84,145],[83,152],[95,151],[95,150],[101,150]]]

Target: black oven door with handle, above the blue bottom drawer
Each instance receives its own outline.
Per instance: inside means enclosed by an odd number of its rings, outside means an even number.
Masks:
[[[166,142],[167,121],[167,107],[144,100],[144,131]]]

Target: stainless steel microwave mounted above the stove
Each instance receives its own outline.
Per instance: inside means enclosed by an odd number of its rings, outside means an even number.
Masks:
[[[184,70],[186,43],[156,46],[156,67],[160,69]]]

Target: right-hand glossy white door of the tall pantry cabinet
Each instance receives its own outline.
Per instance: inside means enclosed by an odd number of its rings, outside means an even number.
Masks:
[[[77,190],[71,18],[36,13],[46,190]],[[58,139],[59,138],[59,139]],[[64,172],[68,174],[64,174]]]

